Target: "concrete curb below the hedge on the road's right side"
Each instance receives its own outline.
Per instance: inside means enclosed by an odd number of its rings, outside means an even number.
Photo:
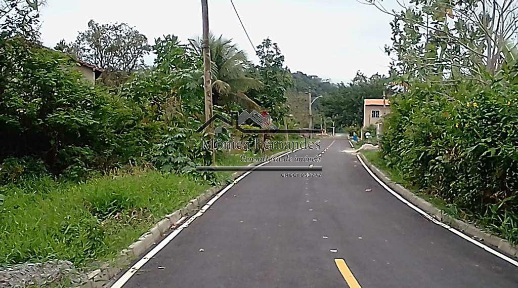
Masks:
[[[378,178],[381,179],[381,181],[383,181],[397,194],[401,195],[401,197],[405,198],[413,205],[421,208],[426,213],[430,214],[431,217],[434,217],[435,219],[450,225],[451,227],[463,232],[471,238],[477,239],[478,241],[486,244],[487,246],[491,246],[493,249],[499,250],[500,252],[507,254],[508,256],[518,257],[518,246],[515,246],[511,244],[509,241],[504,240],[500,237],[484,232],[472,224],[453,218],[444,211],[428,203],[423,198],[416,196],[414,193],[410,192],[405,187],[393,182],[380,169],[378,169],[378,167],[372,165],[372,163],[370,163],[367,160],[367,157],[365,157],[365,155],[361,153],[359,153],[358,155],[362,157],[362,160],[365,162],[365,164]]]

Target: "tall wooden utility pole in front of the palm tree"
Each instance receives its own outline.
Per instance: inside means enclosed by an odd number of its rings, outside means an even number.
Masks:
[[[205,89],[205,122],[212,117],[212,84],[210,75],[210,48],[209,48],[209,6],[207,0],[202,0],[203,17],[203,80]],[[212,124],[207,127],[209,142],[214,136]],[[216,152],[212,149],[212,165],[216,164]]]

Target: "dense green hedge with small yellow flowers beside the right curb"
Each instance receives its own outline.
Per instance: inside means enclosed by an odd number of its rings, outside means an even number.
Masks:
[[[415,84],[391,99],[391,109],[383,125],[387,163],[518,241],[516,81]]]

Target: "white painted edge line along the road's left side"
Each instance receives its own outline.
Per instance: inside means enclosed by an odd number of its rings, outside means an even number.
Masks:
[[[300,150],[300,148],[293,150],[293,151],[288,151],[286,153],[283,153],[283,154],[275,157],[275,159],[278,159],[287,154],[297,152],[298,150]],[[260,167],[260,166],[266,165],[270,162],[271,162],[271,160],[258,164],[255,167]],[[176,228],[175,231],[171,232],[171,234],[169,234],[166,238],[164,238],[162,241],[160,241],[160,243],[158,243],[153,249],[151,249],[151,251],[149,251],[146,255],[142,256],[140,258],[140,260],[137,261],[137,263],[135,263],[132,267],[130,267],[130,269],[128,269],[126,272],[124,272],[124,274],[121,276],[121,278],[117,279],[117,281],[115,283],[113,283],[113,285],[111,285],[111,288],[121,288],[124,284],[126,284],[126,282],[128,280],[130,280],[130,278],[132,278],[132,276],[135,275],[135,273],[140,268],[142,268],[142,266],[144,266],[154,255],[159,253],[160,250],[162,250],[169,242],[172,241],[172,239],[175,239],[175,237],[178,236],[178,234],[180,234],[180,232],[182,232],[183,229],[188,227],[189,224],[191,224],[194,220],[196,220],[196,218],[203,215],[204,212],[207,211],[210,208],[210,206],[212,204],[214,204],[214,202],[216,200],[218,200],[221,196],[223,196],[223,194],[225,194],[225,192],[230,190],[235,184],[237,184],[239,181],[241,181],[244,177],[248,176],[251,172],[252,171],[248,171],[245,174],[239,176],[236,180],[234,180],[234,182],[232,182],[231,184],[228,184],[223,190],[221,190],[218,194],[216,194],[214,197],[212,197],[212,199],[210,199],[207,202],[207,204],[205,204],[202,207],[202,209],[200,209],[196,214],[194,214],[191,218],[189,218],[187,221],[185,221],[180,227]],[[176,224],[181,223],[183,220],[185,220],[185,218],[186,217],[180,219]]]

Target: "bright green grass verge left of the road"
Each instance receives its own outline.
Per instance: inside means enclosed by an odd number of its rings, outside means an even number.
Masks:
[[[242,154],[254,156],[249,151],[220,154],[218,164],[248,165],[240,161]],[[217,180],[225,183],[232,174],[220,172]],[[43,177],[0,186],[0,266],[57,258],[85,267],[113,260],[164,215],[209,188],[189,176],[150,169],[83,183]]]

